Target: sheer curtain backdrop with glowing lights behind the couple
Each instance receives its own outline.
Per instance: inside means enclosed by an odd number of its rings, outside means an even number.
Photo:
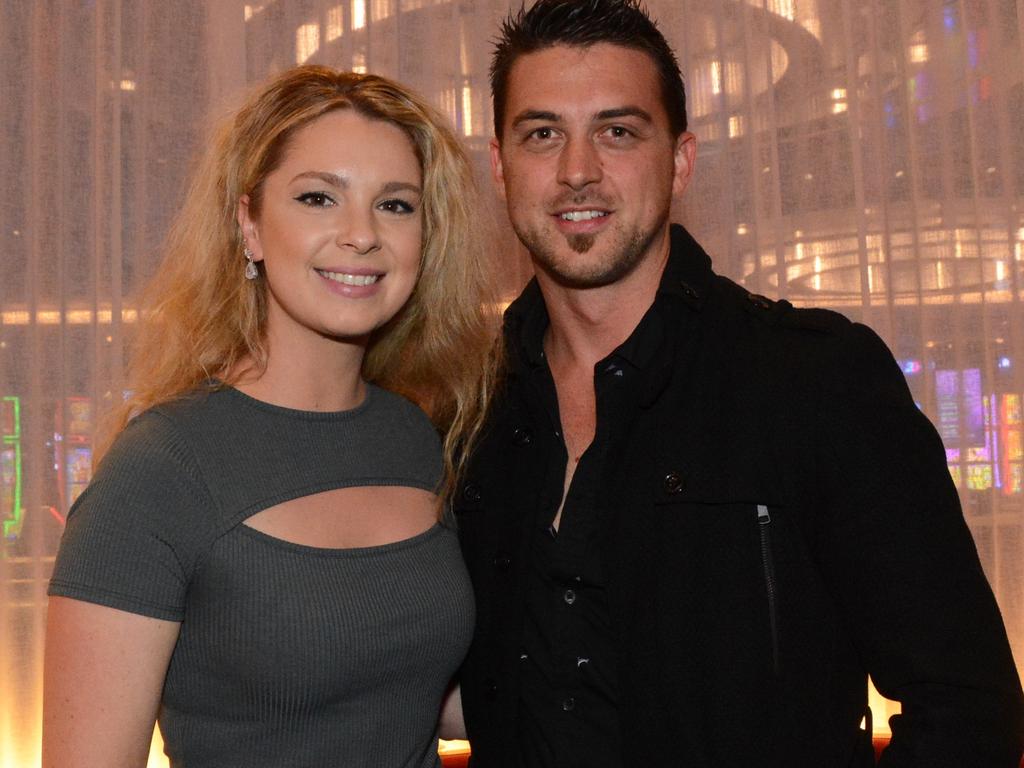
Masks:
[[[53,553],[211,122],[296,62],[412,85],[474,157],[512,296],[529,266],[486,177],[512,5],[0,0],[0,768],[39,764]],[[886,339],[1024,660],[1024,0],[648,5],[699,139],[677,218],[720,272]]]

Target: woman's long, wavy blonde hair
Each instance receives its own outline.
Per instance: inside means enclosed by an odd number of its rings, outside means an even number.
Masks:
[[[297,130],[334,110],[391,123],[412,139],[423,171],[423,254],[407,304],[372,336],[362,365],[371,382],[420,404],[444,434],[445,486],[480,429],[496,377],[497,312],[464,151],[443,118],[403,86],[375,75],[298,67],[258,88],[217,132],[168,234],[146,288],[129,368],[131,416],[207,382],[229,385],[266,365],[267,297],[245,280],[236,219],[250,199],[258,218],[267,176]]]

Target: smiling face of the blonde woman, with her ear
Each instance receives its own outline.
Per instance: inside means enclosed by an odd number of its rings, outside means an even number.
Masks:
[[[267,282],[275,343],[360,341],[409,299],[420,263],[422,171],[395,125],[353,110],[303,126],[239,223]],[[242,267],[239,268],[242,280]]]

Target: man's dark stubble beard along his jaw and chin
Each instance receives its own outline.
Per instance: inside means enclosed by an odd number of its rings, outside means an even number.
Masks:
[[[546,237],[539,229],[521,229],[514,224],[513,229],[526,250],[529,251],[536,266],[543,269],[556,283],[566,288],[599,288],[617,283],[637,267],[654,238],[665,227],[668,218],[669,210],[666,210],[647,231],[636,228],[632,231],[612,229],[602,232],[604,239],[610,239],[608,257],[591,265],[583,272],[571,269],[573,266],[580,266],[579,264],[558,259],[557,248],[554,247],[557,246],[557,243],[552,242],[553,238]],[[554,238],[564,238],[568,247],[580,255],[589,253],[597,243],[598,237],[600,236],[570,234],[565,237],[561,233],[554,236]]]

